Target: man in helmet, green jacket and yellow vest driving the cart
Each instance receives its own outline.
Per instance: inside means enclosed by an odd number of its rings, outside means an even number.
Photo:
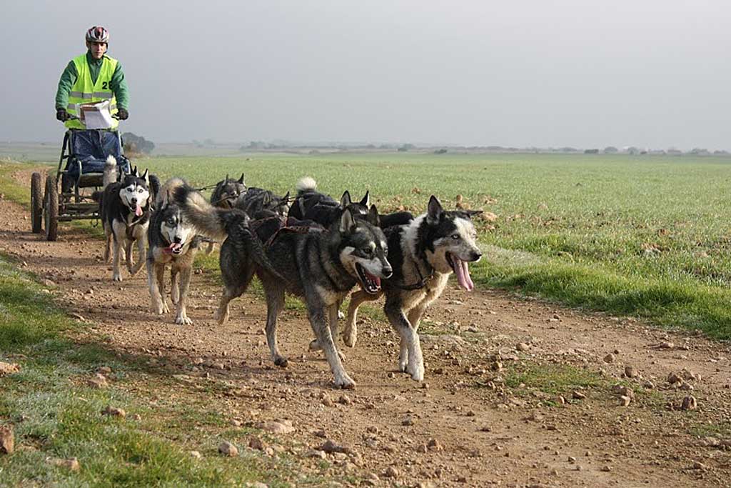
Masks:
[[[109,31],[94,26],[86,31],[86,54],[77,56],[67,65],[56,91],[56,119],[69,129],[86,129],[78,119],[79,105],[88,102],[110,101],[110,112],[119,120],[129,117],[129,93],[121,64],[107,52]],[[113,118],[110,129],[116,129]]]

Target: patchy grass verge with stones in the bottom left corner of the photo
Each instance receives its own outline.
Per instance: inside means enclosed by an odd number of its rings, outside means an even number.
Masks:
[[[0,378],[0,424],[12,424],[16,445],[0,456],[0,486],[289,486],[291,469],[273,459],[248,450],[234,459],[217,454],[221,440],[241,445],[251,430],[231,427],[210,398],[181,395],[175,380],[146,370],[141,359],[69,339],[83,324],[2,257],[0,296],[0,360],[20,366]],[[88,385],[100,367],[111,369],[112,387]],[[126,391],[131,385],[135,395]],[[126,417],[103,415],[107,406]],[[72,457],[80,470],[50,462]]]

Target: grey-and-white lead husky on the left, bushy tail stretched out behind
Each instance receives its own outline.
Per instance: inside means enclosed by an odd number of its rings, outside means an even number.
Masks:
[[[175,192],[175,200],[200,231],[227,235],[220,255],[225,289],[219,317],[228,313],[229,301],[240,296],[257,274],[267,299],[267,342],[274,364],[287,366],[287,359],[277,347],[276,322],[284,308],[284,293],[292,293],[306,304],[312,330],[322,345],[336,386],[354,388],[355,381],[343,367],[332,331],[338,327],[338,303],[351,288],[360,283],[368,293],[378,293],[381,279],[392,274],[376,207],[371,207],[366,219],[359,220],[346,210],[329,230],[301,232],[284,228],[271,239],[260,236],[270,242],[264,249],[260,241],[256,246],[248,238],[241,239],[244,222],[234,223],[225,211],[213,209],[195,192],[181,187]],[[257,256],[260,250],[263,256]]]

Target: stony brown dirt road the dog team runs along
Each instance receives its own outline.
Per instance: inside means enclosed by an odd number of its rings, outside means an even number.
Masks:
[[[29,184],[29,173],[17,178]],[[178,369],[181,381],[225,384],[211,403],[244,424],[292,421],[295,432],[275,437],[299,446],[292,453],[303,472],[325,456],[329,475],[354,486],[731,484],[727,345],[450,282],[423,325],[425,383],[396,370],[398,338],[387,323],[364,317],[355,348],[338,341],[357,388],[337,391],[327,363],[307,350],[304,312],[281,318],[290,361],[279,369],[262,330],[265,304],[254,295],[232,302],[232,320],[219,326],[220,290],[213,276],[194,274],[194,323],[178,326],[172,313],[150,311],[144,269],[112,281],[101,241],[61,225],[58,241],[46,242],[7,200],[0,229],[0,251],[58,285],[58,303],[110,347]],[[669,383],[671,373],[681,380]],[[617,383],[631,391],[613,391]],[[697,408],[682,410],[691,395]],[[327,439],[346,452],[321,453]]]

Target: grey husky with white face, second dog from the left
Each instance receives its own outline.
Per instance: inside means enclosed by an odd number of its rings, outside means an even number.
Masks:
[[[183,215],[180,206],[170,201],[170,188],[179,184],[180,179],[168,180],[155,202],[155,211],[150,218],[147,233],[147,282],[154,312],[158,315],[170,312],[164,295],[165,267],[170,265],[170,296],[176,306],[175,323],[189,325],[193,320],[186,313],[186,298],[193,258],[200,247],[201,239],[196,235],[192,223]]]

